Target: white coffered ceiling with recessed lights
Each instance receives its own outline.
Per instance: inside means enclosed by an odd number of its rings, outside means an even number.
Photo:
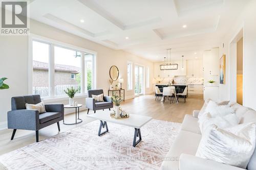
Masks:
[[[172,48],[175,60],[181,55],[200,58],[203,50],[218,46],[249,1],[34,0],[30,17],[105,46],[162,61],[166,48]]]

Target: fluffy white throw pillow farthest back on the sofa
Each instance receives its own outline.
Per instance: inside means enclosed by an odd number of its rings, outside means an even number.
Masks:
[[[218,105],[214,101],[209,101],[205,108],[205,113],[210,113],[211,117],[225,116],[230,113],[234,113],[234,110],[229,105]]]

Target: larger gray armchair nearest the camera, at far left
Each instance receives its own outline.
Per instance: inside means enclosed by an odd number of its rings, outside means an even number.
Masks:
[[[11,99],[12,110],[8,112],[8,129],[13,129],[11,140],[17,129],[33,130],[36,132],[38,142],[38,130],[57,123],[64,117],[63,104],[45,104],[46,112],[39,114],[38,110],[27,110],[26,103],[37,104],[41,102],[40,95],[16,96]]]

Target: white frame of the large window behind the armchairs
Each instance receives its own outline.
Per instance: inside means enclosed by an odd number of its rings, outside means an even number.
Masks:
[[[38,41],[38,42],[42,42],[42,43],[47,43],[50,45],[50,54],[49,54],[49,84],[50,84],[50,96],[49,97],[45,97],[42,98],[44,101],[47,102],[54,102],[54,101],[61,101],[61,100],[66,100],[68,99],[67,95],[61,95],[61,96],[55,96],[54,95],[54,46],[58,46],[58,47],[62,47],[62,48],[66,48],[69,50],[74,50],[77,52],[81,53],[81,93],[77,94],[75,96],[75,98],[83,98],[83,97],[87,97],[87,90],[85,90],[85,82],[84,82],[84,53],[87,54],[92,54],[93,60],[92,60],[92,68],[93,68],[93,72],[92,72],[92,89],[96,89],[97,86],[97,76],[96,76],[96,61],[97,61],[97,52],[88,50],[86,48],[82,48],[82,47],[78,47],[78,46],[74,46],[65,42],[61,42],[61,41],[57,41],[57,40],[53,40],[50,38],[46,38],[46,37],[42,37],[42,36],[38,36],[35,34],[30,34],[29,36],[29,60],[28,60],[28,92],[29,94],[33,93],[33,41]]]

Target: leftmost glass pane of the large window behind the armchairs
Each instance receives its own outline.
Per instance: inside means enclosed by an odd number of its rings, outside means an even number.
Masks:
[[[33,94],[42,98],[50,96],[49,55],[50,44],[33,41]]]

